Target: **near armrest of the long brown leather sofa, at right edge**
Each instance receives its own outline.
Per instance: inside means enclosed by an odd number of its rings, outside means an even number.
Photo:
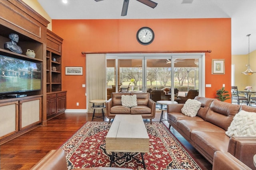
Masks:
[[[252,169],[256,169],[253,164],[255,148],[256,137],[230,137],[228,143],[228,152]]]

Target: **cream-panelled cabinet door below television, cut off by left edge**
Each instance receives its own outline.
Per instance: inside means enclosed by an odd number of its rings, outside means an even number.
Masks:
[[[0,104],[0,139],[18,131],[18,101]]]

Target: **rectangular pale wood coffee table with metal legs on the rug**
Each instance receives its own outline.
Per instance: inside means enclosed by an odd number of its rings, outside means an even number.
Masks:
[[[143,153],[149,152],[149,137],[141,115],[116,115],[106,136],[106,151],[112,152],[110,167],[114,160],[114,152],[140,152],[145,167]]]

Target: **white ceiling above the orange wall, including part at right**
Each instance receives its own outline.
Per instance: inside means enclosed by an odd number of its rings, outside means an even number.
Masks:
[[[38,0],[52,19],[159,19],[159,18],[232,18],[232,55],[256,50],[256,0],[152,0],[152,9],[130,0],[127,16],[121,16],[123,0]]]

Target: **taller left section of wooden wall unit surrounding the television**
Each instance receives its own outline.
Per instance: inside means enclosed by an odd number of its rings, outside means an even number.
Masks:
[[[4,119],[3,122],[0,122],[0,124],[6,124],[4,129],[8,129],[6,134],[1,134],[1,145],[40,125],[46,125],[46,111],[44,111],[46,102],[43,102],[46,98],[44,85],[47,83],[44,74],[46,64],[44,59],[46,51],[44,49],[49,21],[32,10],[22,0],[1,0],[0,9],[0,55],[42,64],[41,90],[20,92],[20,94],[27,94],[26,97],[0,100],[1,109],[6,110],[5,106],[12,108],[10,114],[8,113],[8,120]],[[4,43],[10,41],[10,33],[16,33],[19,36],[17,45],[22,49],[22,54],[4,49]],[[35,58],[26,56],[28,49],[34,51]],[[33,111],[31,112],[31,110]],[[5,112],[1,113],[6,114]],[[12,124],[12,129],[9,129],[9,124]]]

